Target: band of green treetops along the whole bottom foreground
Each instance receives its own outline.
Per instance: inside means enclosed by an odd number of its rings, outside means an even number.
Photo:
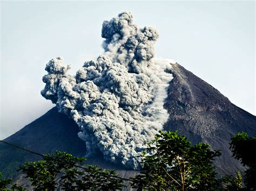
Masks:
[[[256,138],[247,133],[238,133],[231,139],[233,157],[247,166],[245,183],[248,189],[256,189],[255,156]],[[129,180],[138,190],[241,190],[242,176],[225,175],[217,180],[214,157],[220,151],[211,151],[207,144],[192,146],[185,136],[177,132],[163,132],[154,137],[143,152],[143,172],[135,178],[123,179],[110,169],[96,165],[82,167],[83,157],[56,151],[45,154],[43,160],[25,162],[21,171],[30,179],[35,190],[117,190],[124,188]],[[11,185],[11,179],[2,179],[0,190],[25,190],[22,186]]]

